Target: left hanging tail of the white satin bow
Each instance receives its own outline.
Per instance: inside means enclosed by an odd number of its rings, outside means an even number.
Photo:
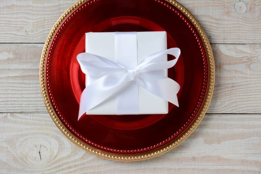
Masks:
[[[115,79],[117,79],[117,81],[115,81]],[[117,72],[103,76],[88,85],[81,95],[78,120],[84,113],[127,86],[128,81],[129,78],[127,74]]]

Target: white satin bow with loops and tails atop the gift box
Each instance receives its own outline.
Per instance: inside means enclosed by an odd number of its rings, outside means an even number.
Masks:
[[[163,56],[173,55],[174,60],[162,61]],[[97,106],[112,95],[119,94],[133,83],[178,106],[177,92],[180,86],[172,79],[157,72],[172,68],[180,55],[179,48],[170,48],[147,56],[134,69],[128,69],[104,57],[80,53],[77,60],[83,73],[95,79],[81,95],[79,116]]]

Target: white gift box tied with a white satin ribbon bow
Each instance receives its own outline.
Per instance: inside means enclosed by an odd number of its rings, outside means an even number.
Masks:
[[[86,54],[78,55],[81,69],[86,74],[87,87],[81,96],[79,118],[83,113],[103,115],[168,113],[168,100],[162,96],[167,95],[167,92],[163,91],[164,87],[160,89],[161,87],[156,86],[160,86],[161,83],[163,86],[170,86],[167,90],[174,91],[172,96],[176,96],[179,86],[175,82],[169,85],[169,81],[173,81],[167,78],[169,67],[158,68],[161,66],[156,65],[159,62],[161,62],[159,65],[168,62],[167,54],[171,53],[166,53],[166,50],[165,31],[86,33]],[[176,57],[173,61],[176,62],[180,51],[177,48],[171,51]],[[148,56],[153,57],[153,54],[154,57],[158,57],[150,60],[152,58]],[[147,61],[147,65],[144,60]],[[146,78],[152,83],[147,83]],[[124,84],[121,84],[121,81],[124,81]],[[153,84],[155,82],[157,84]],[[114,91],[112,87],[117,90]],[[157,88],[159,91],[155,91]],[[104,96],[108,94],[106,90],[112,93],[108,97]],[[162,92],[165,94],[161,94]],[[174,102],[178,105],[177,101]]]

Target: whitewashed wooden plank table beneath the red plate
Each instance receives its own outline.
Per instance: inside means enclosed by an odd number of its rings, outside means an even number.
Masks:
[[[0,0],[0,174],[261,174],[261,0],[178,1],[212,44],[212,102],[174,150],[123,163],[71,143],[41,97],[43,43],[75,0]]]

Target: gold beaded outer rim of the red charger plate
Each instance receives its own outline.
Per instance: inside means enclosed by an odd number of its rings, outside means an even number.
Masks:
[[[97,155],[101,158],[115,160],[115,161],[141,161],[141,160],[157,157],[159,155],[162,155],[162,154],[172,150],[174,147],[176,147],[177,145],[182,143],[199,125],[199,123],[201,122],[201,120],[203,119],[203,117],[204,117],[204,115],[207,111],[207,108],[210,104],[210,100],[211,100],[211,97],[212,97],[212,94],[213,94],[214,81],[215,81],[214,58],[213,58],[213,53],[212,53],[212,50],[211,50],[210,43],[207,39],[205,32],[203,31],[203,29],[201,28],[201,26],[199,25],[199,23],[195,19],[195,17],[193,15],[191,15],[190,12],[186,8],[184,8],[181,4],[179,4],[175,0],[165,0],[165,1],[169,2],[170,4],[172,4],[174,7],[176,7],[178,10],[180,10],[190,20],[190,22],[196,28],[196,30],[197,30],[198,34],[200,35],[200,38],[201,38],[201,40],[204,44],[205,52],[207,53],[209,74],[208,74],[208,88],[207,88],[207,91],[206,91],[206,96],[205,96],[205,99],[203,101],[202,108],[199,111],[199,113],[196,115],[196,119],[184,131],[184,133],[179,136],[179,138],[174,140],[174,142],[167,144],[164,147],[161,147],[158,150],[154,150],[152,152],[138,154],[138,155],[121,155],[121,154],[113,154],[113,153],[104,152],[104,151],[93,148],[93,147],[88,146],[87,144],[83,143],[80,139],[78,139],[75,135],[73,135],[64,126],[64,124],[61,122],[61,120],[57,116],[57,114],[56,114],[56,112],[55,112],[55,110],[54,110],[54,108],[53,108],[53,106],[50,102],[50,98],[47,94],[47,87],[46,87],[46,83],[45,83],[46,56],[47,56],[47,53],[49,51],[49,47],[50,47],[50,44],[53,40],[53,36],[54,36],[55,32],[57,31],[57,29],[59,28],[61,23],[66,19],[66,17],[68,17],[72,12],[74,12],[74,10],[76,10],[79,6],[81,6],[83,3],[87,2],[87,1],[89,1],[89,0],[79,0],[75,4],[73,4],[70,8],[67,9],[61,15],[61,17],[57,20],[57,22],[55,23],[55,25],[51,29],[51,31],[50,31],[47,39],[46,39],[46,42],[44,44],[44,48],[43,48],[42,55],[41,55],[41,61],[40,61],[40,74],[39,74],[39,76],[40,76],[40,86],[41,86],[42,97],[43,97],[45,106],[46,106],[51,118],[53,119],[56,126],[63,132],[63,134],[68,139],[70,139],[72,142],[74,142],[79,147],[85,149],[87,152],[94,154],[94,155]]]

